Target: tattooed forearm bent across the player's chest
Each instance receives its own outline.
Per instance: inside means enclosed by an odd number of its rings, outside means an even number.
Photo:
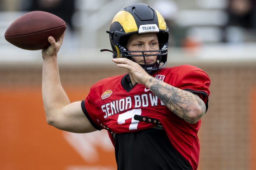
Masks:
[[[166,107],[188,123],[196,123],[206,112],[205,103],[191,92],[175,88],[155,78],[149,80],[149,88]],[[200,108],[200,115],[191,119],[189,115],[196,108]]]

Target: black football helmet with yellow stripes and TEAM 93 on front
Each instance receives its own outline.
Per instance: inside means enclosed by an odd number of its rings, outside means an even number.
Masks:
[[[131,34],[157,33],[159,41],[159,50],[153,51],[128,51],[125,47],[128,37]],[[167,62],[168,46],[168,27],[163,16],[147,4],[130,4],[122,8],[115,16],[111,23],[109,39],[112,51],[102,49],[101,51],[110,51],[113,58],[128,58],[143,56],[144,64],[141,66],[147,73],[153,74],[155,71],[162,69]],[[141,52],[141,55],[131,55],[131,52]],[[144,54],[145,52],[158,52],[158,54]],[[154,64],[146,64],[145,56],[157,56]]]

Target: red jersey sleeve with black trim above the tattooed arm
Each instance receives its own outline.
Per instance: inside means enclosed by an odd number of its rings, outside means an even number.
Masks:
[[[179,78],[175,86],[198,95],[205,102],[207,110],[210,83],[210,78],[204,71],[191,70]]]

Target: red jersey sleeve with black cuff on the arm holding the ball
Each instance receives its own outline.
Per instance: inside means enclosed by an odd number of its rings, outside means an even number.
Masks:
[[[97,118],[97,109],[95,107],[95,104],[92,100],[92,92],[90,91],[89,95],[86,97],[85,100],[81,102],[81,107],[83,110],[83,113],[88,118],[92,126],[97,130],[102,130],[99,126],[99,119]]]

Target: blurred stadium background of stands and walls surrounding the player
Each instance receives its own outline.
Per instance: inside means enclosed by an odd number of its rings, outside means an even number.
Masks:
[[[74,134],[47,125],[40,51],[14,47],[7,27],[42,10],[68,23],[58,55],[71,101],[92,84],[123,74],[111,63],[113,16],[130,3],[147,3],[170,29],[168,67],[192,64],[211,78],[209,110],[199,130],[199,170],[256,169],[255,0],[0,0],[0,169],[114,170],[114,148],[104,130]]]

